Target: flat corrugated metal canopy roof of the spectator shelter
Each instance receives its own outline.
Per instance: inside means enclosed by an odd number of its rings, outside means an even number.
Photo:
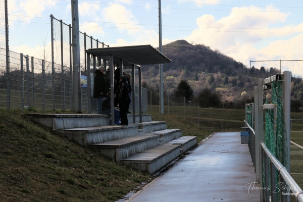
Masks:
[[[125,62],[135,65],[151,65],[171,62],[170,59],[151,45],[90,48],[86,50],[86,53],[96,57],[108,57],[110,55],[114,55],[123,59]],[[119,60],[114,62],[119,63]]]

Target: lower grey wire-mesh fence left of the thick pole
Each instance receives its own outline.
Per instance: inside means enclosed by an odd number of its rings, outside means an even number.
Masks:
[[[83,76],[83,75],[82,75]],[[83,78],[85,80],[87,78]],[[73,109],[72,72],[61,65],[10,52],[10,71],[6,69],[6,52],[0,48],[0,107],[36,109]],[[82,110],[87,111],[87,85],[81,88]],[[139,89],[135,86],[136,103]],[[136,112],[139,111],[139,106]],[[130,105],[132,110],[132,105]],[[142,89],[142,111],[147,111],[147,89]]]

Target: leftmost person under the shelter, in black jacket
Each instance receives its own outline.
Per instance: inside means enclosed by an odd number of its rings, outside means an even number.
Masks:
[[[95,77],[93,80],[93,97],[97,98],[97,114],[102,113],[102,102],[106,96],[106,82],[104,79],[104,67],[99,66],[95,71]]]

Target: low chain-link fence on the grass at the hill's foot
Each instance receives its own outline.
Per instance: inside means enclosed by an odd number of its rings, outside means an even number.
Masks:
[[[160,112],[159,95],[147,93],[147,112]],[[245,108],[201,108],[199,103],[188,102],[185,97],[164,96],[164,114],[203,126],[212,131],[239,131],[243,127]]]

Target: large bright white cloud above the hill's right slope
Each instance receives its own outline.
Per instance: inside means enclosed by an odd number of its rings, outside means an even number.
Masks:
[[[216,20],[212,15],[203,15],[196,19],[198,28],[186,37],[186,40],[206,44],[212,49],[219,49],[223,54],[246,65],[249,60],[273,60],[281,56],[290,57],[290,54],[295,51],[289,51],[288,56],[282,53],[282,47],[286,44],[281,45],[281,48],[274,45],[279,43],[271,44],[277,37],[290,38],[294,33],[289,31],[303,27],[300,24],[273,29],[278,22],[284,22],[287,16],[288,14],[279,12],[270,6],[265,9],[255,6],[233,8],[229,16],[219,20]],[[260,48],[256,46],[257,44],[267,47],[258,50]],[[280,44],[282,44],[281,41]],[[281,52],[278,54],[279,49]],[[294,50],[296,49],[294,48]]]

